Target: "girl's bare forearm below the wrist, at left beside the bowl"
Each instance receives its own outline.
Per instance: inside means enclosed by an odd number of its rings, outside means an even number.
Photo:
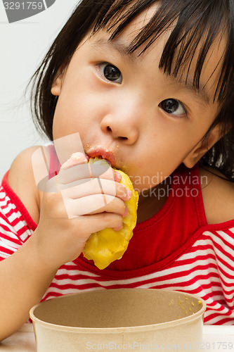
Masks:
[[[29,318],[30,308],[41,301],[56,275],[38,253],[37,230],[12,256],[0,263],[0,341]]]

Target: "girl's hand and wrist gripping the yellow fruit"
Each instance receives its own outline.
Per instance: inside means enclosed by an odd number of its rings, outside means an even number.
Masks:
[[[93,232],[120,230],[131,198],[116,170],[75,155],[48,180],[34,232],[41,260],[53,268],[77,258]]]

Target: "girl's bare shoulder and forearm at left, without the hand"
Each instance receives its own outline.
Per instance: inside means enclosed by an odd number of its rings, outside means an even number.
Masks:
[[[8,172],[8,184],[38,223],[39,193],[31,163],[36,149],[38,146],[26,149],[15,158]],[[37,230],[18,251],[0,262],[0,341],[28,320],[30,308],[41,301],[56,275],[56,268],[45,268],[39,258],[36,235]]]

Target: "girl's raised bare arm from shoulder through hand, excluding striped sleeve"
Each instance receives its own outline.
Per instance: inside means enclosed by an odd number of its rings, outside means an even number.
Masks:
[[[117,172],[112,172],[114,179],[106,175],[102,182],[109,193],[113,189],[110,184],[114,183],[116,192],[113,200],[103,208],[69,219],[61,193],[50,192],[48,187],[37,214],[40,197],[32,179],[31,158],[28,154],[26,151],[16,158],[8,182],[33,220],[39,218],[39,222],[30,239],[0,263],[0,341],[27,321],[30,308],[41,301],[58,268],[79,256],[91,233],[105,227],[113,227],[115,230],[122,228],[122,217],[126,216],[124,201],[129,200],[126,199],[126,188],[116,182]],[[88,182],[83,182],[82,187],[70,192],[69,183],[74,181],[71,177],[75,175],[79,178],[77,170],[71,171],[63,170],[62,183],[68,186],[66,201],[76,214],[84,207],[86,199],[88,204],[98,203],[99,199],[103,200],[103,194],[97,194]],[[87,175],[82,177],[86,178]]]

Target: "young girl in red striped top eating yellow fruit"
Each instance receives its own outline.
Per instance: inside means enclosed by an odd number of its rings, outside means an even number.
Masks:
[[[233,20],[233,0],[77,6],[34,76],[36,122],[51,141],[79,134],[87,156],[126,172],[138,223],[124,256],[99,270],[82,250],[93,232],[122,227],[118,172],[103,176],[112,202],[79,215],[101,196],[84,182],[69,219],[61,194],[35,184],[38,147],[20,153],[1,185],[1,339],[41,300],[120,287],[197,294],[206,324],[234,323]]]

